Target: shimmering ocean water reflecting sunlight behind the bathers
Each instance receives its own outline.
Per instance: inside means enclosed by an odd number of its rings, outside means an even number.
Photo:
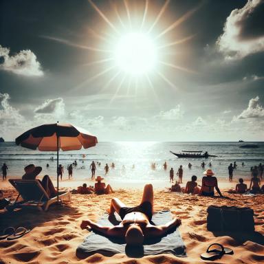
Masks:
[[[91,177],[89,165],[91,161],[96,162],[96,175],[101,175],[105,179],[131,183],[141,181],[168,181],[170,168],[175,170],[180,165],[184,168],[184,180],[190,179],[192,175],[197,175],[198,179],[203,177],[201,162],[205,162],[205,168],[212,164],[212,170],[219,178],[228,179],[228,166],[236,162],[238,165],[234,170],[234,178],[243,176],[245,179],[251,177],[250,167],[264,164],[264,142],[255,143],[259,148],[239,148],[239,142],[100,142],[96,146],[79,151],[60,151],[59,164],[64,166],[63,179],[67,179],[67,165],[75,160],[74,179],[84,180]],[[208,159],[185,159],[177,158],[170,153],[180,151],[208,151],[211,157]],[[54,158],[53,161],[51,158]],[[168,168],[164,170],[163,164],[167,162]],[[24,173],[23,168],[28,164],[41,166],[41,175],[56,177],[56,152],[32,151],[14,142],[0,143],[0,165],[5,162],[8,165],[8,176],[21,177]],[[98,163],[100,162],[100,166]],[[111,168],[111,163],[115,168]],[[151,168],[151,163],[155,162],[156,168]],[[188,168],[188,163],[192,168]],[[245,166],[242,166],[244,162]],[[47,168],[47,164],[49,167]],[[104,166],[109,164],[109,173],[104,175]],[[134,168],[133,168],[134,165]]]

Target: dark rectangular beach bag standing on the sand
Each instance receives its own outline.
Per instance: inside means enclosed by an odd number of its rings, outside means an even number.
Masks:
[[[207,209],[209,231],[254,232],[254,211],[236,206],[209,206]]]

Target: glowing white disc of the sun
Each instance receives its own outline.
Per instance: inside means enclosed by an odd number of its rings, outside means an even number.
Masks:
[[[157,50],[147,34],[131,32],[120,37],[114,58],[115,64],[127,74],[146,74],[155,68]]]

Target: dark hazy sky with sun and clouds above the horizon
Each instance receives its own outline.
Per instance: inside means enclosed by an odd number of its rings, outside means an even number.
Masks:
[[[0,137],[263,141],[264,1],[1,0]]]

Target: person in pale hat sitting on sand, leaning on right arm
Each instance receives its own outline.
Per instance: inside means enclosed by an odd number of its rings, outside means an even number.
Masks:
[[[212,175],[214,175],[212,170],[210,168],[208,168],[203,174],[206,176],[204,176],[202,181],[201,181],[201,192],[200,192],[200,194],[203,196],[214,196],[214,188],[215,188],[217,190],[217,192],[219,193],[220,197],[223,197],[223,195],[221,194],[221,192],[218,188],[217,178],[212,177]]]

